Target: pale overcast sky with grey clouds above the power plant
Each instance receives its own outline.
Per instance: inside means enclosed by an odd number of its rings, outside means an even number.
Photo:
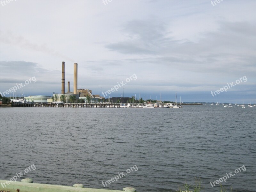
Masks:
[[[107,98],[254,103],[255,8],[255,0],[2,0],[0,92],[27,81],[15,94],[60,93],[65,61],[66,91],[76,62],[78,88],[118,86]]]

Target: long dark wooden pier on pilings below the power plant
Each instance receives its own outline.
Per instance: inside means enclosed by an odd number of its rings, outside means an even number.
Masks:
[[[120,108],[120,104],[102,103],[12,103],[12,107]]]

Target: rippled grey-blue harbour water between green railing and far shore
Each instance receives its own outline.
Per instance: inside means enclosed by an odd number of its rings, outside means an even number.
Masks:
[[[175,191],[201,177],[255,191],[256,107],[0,108],[0,179],[31,170],[35,183]],[[138,170],[104,187],[118,172]],[[22,179],[21,178],[21,179]],[[18,181],[20,181],[19,179]]]

